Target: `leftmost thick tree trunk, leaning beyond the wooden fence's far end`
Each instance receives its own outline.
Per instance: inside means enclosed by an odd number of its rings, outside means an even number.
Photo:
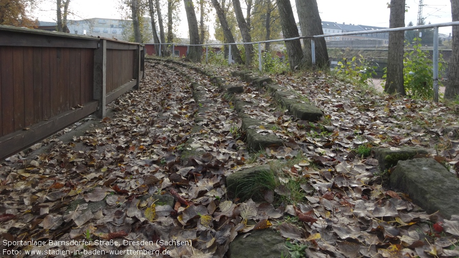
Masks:
[[[194,12],[193,0],[183,0],[185,12],[188,20],[188,32],[190,34],[190,47],[188,48],[187,58],[194,62],[201,62],[202,48],[199,44],[198,21]]]

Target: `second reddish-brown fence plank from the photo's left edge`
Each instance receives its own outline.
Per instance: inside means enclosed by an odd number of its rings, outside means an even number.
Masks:
[[[13,47],[13,112],[14,130],[24,124],[24,48]]]

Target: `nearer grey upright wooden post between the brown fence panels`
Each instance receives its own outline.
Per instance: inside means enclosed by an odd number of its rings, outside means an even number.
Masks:
[[[99,101],[97,118],[106,115],[106,83],[107,83],[107,40],[99,41],[99,48],[94,51],[94,99]]]

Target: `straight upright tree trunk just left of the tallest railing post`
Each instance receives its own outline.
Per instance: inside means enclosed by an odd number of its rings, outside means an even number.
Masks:
[[[389,27],[405,27],[405,0],[391,0],[391,16]],[[387,73],[384,91],[389,94],[405,96],[403,85],[403,31],[389,32],[389,46],[387,52]]]

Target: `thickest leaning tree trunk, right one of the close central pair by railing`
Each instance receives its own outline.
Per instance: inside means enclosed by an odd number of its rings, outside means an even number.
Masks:
[[[316,0],[295,0],[302,36],[322,35],[322,20]],[[315,38],[315,63],[320,68],[328,68],[328,52],[325,38]],[[311,39],[303,39],[306,66],[312,66]]]

